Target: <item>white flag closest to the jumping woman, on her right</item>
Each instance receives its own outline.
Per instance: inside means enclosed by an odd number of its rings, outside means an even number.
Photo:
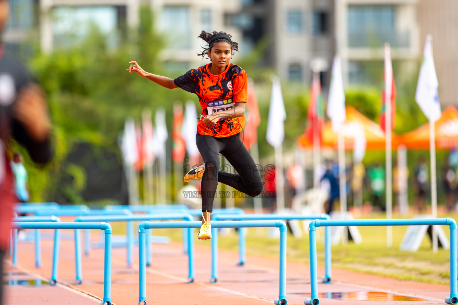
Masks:
[[[280,80],[277,76],[272,79],[272,94],[270,96],[269,118],[267,121],[266,139],[273,147],[277,147],[283,143],[284,120],[286,119],[286,111],[283,103],[282,88]]]

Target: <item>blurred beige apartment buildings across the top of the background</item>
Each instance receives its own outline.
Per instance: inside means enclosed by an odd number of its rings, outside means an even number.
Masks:
[[[374,86],[371,64],[382,61],[383,43],[390,43],[400,69],[415,72],[426,34],[432,34],[441,103],[458,104],[456,0],[11,0],[3,38],[15,45],[38,29],[42,49],[52,52],[84,37],[90,23],[105,34],[121,24],[136,27],[142,5],[156,14],[157,29],[167,40],[161,58],[171,71],[205,64],[196,56],[205,45],[197,36],[222,30],[240,43],[234,62],[265,38],[263,65],[304,85],[318,70],[325,90],[334,54],[342,59],[346,85]]]

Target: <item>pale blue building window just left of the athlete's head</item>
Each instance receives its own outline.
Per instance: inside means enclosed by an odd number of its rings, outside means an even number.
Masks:
[[[169,48],[191,48],[191,12],[189,6],[164,6],[159,28],[167,34]]]

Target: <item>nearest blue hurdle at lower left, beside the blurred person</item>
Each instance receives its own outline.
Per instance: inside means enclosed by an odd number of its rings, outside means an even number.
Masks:
[[[72,229],[75,232],[80,229],[85,230],[104,230],[105,231],[105,251],[104,251],[104,299],[103,305],[111,305],[111,226],[105,222],[12,222],[15,229]],[[56,230],[59,235],[60,230]],[[76,233],[75,233],[76,235]],[[57,282],[57,270],[59,266],[59,246],[60,238],[54,244],[53,269],[49,284],[55,285]]]

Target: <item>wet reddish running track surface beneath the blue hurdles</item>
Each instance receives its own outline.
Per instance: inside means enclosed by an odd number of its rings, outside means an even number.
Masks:
[[[47,230],[43,230],[46,232]],[[50,232],[50,231],[49,231]],[[93,240],[96,234],[93,232]],[[50,233],[49,233],[50,234]],[[7,285],[5,305],[100,304],[103,296],[103,249],[92,249],[89,257],[82,256],[83,284],[74,285],[75,254],[73,233],[62,230],[59,282],[49,284]],[[224,238],[221,236],[220,238]],[[210,247],[196,242],[196,281],[187,284],[187,256],[180,243],[154,244],[152,266],[147,268],[147,301],[149,304],[179,305],[266,305],[278,297],[278,259],[248,256],[244,267],[235,265],[236,251],[219,251],[219,278],[210,284]],[[137,248],[136,248],[137,250]],[[42,240],[43,268],[35,269],[33,243],[19,243],[18,268],[6,260],[5,281],[10,279],[47,281],[51,273],[52,241]],[[111,297],[115,305],[138,304],[138,252],[134,266],[125,264],[125,248],[112,251]],[[308,253],[305,253],[308,256]],[[318,275],[324,274],[318,266]],[[320,283],[321,281],[319,281]],[[310,296],[309,265],[287,263],[288,304],[304,304]],[[449,286],[401,281],[376,275],[333,268],[332,284],[318,284],[320,304],[445,304]],[[322,293],[328,293],[322,294]],[[330,294],[332,293],[332,294]],[[325,296],[334,299],[326,298]]]

